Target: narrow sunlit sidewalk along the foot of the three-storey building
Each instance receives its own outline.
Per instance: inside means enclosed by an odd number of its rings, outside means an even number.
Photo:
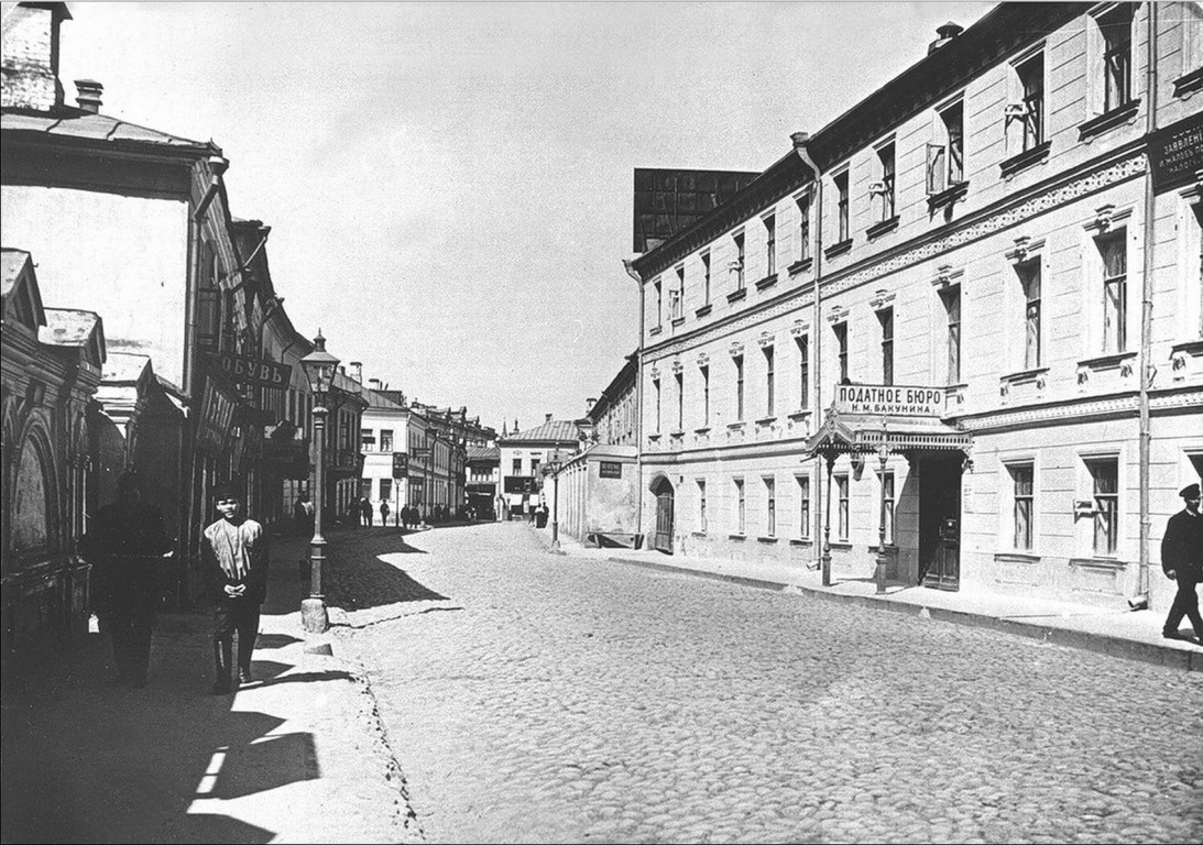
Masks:
[[[551,528],[532,530],[550,548]],[[1115,611],[965,589],[949,593],[902,585],[890,585],[885,594],[877,595],[877,587],[871,578],[837,579],[831,587],[823,587],[819,572],[798,565],[669,555],[645,549],[588,548],[563,532],[559,534],[559,545],[561,551],[573,557],[718,578],[746,587],[789,590],[823,601],[909,613],[959,625],[991,627],[1055,645],[1102,651],[1189,672],[1203,671],[1203,647],[1161,636],[1166,608]],[[1184,620],[1184,625],[1189,624]]]

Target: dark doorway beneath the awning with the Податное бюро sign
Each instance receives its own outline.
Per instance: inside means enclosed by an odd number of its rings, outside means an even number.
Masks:
[[[919,583],[956,590],[961,582],[961,456],[919,463]]]

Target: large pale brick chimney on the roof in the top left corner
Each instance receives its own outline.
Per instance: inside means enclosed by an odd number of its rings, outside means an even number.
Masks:
[[[51,112],[63,106],[59,29],[65,2],[19,2],[4,12],[4,89],[0,106]]]

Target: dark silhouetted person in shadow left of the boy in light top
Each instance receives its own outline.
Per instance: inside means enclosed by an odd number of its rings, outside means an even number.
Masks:
[[[171,542],[162,512],[142,501],[134,472],[118,476],[117,500],[96,512],[82,552],[93,566],[96,615],[112,641],[117,670],[113,682],[146,686],[160,597],[159,566],[171,554]]]

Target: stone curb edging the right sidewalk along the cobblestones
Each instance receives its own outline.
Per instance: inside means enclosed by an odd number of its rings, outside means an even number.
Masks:
[[[616,564],[642,566],[644,569],[650,570],[676,572],[699,578],[711,578],[715,581],[725,581],[741,587],[754,587],[766,590],[783,590],[789,588],[804,593],[807,596],[823,599],[825,601],[855,605],[873,611],[925,615],[929,619],[936,619],[938,621],[948,621],[956,625],[968,625],[973,627],[988,627],[995,631],[1002,631],[1003,633],[1027,637],[1030,639],[1039,639],[1041,642],[1050,643],[1053,645],[1066,645],[1068,648],[1077,648],[1086,651],[1097,651],[1100,654],[1108,654],[1113,657],[1138,660],[1140,662],[1155,663],[1157,666],[1166,666],[1186,672],[1203,672],[1203,650],[1184,651],[1180,649],[1166,648],[1165,645],[1158,645],[1156,643],[1142,643],[1126,639],[1124,637],[1114,637],[1107,633],[1096,633],[1094,631],[1073,631],[1068,629],[1053,627],[1050,625],[1042,625],[1039,623],[1001,619],[980,613],[970,613],[968,611],[952,611],[943,607],[925,607],[921,605],[877,599],[875,596],[842,595],[838,593],[828,593],[825,590],[814,589],[813,587],[804,587],[801,584],[787,584],[778,581],[748,578],[737,575],[725,575],[723,572],[709,572],[705,570],[691,569],[688,566],[658,564],[650,560],[635,560],[621,557],[610,557],[606,558],[606,560]]]

